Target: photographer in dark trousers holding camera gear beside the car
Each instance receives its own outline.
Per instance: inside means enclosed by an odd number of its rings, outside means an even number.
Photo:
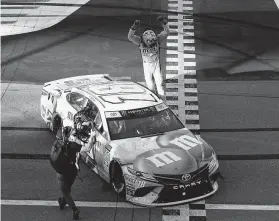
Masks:
[[[63,164],[66,167],[63,172],[57,172],[57,180],[63,194],[63,197],[59,197],[58,203],[61,210],[68,204],[73,211],[73,218],[76,220],[79,218],[80,211],[71,196],[71,187],[79,170],[79,153],[90,151],[96,141],[93,123],[88,120],[83,112],[78,112],[74,116],[74,128],[62,128],[61,136],[57,135],[57,139],[54,146],[57,145],[58,141],[63,140],[62,146],[66,147],[65,155],[69,159],[65,163],[66,157],[64,157],[63,163],[57,163],[57,165]]]

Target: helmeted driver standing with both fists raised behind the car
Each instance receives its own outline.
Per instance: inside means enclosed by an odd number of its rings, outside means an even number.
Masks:
[[[143,62],[144,77],[147,87],[165,100],[165,91],[163,86],[163,75],[160,68],[160,44],[164,41],[169,33],[168,21],[159,16],[157,20],[164,28],[160,34],[156,35],[153,30],[146,29],[141,36],[135,35],[140,21],[136,20],[128,33],[128,39],[138,45]],[[153,80],[154,79],[154,80]]]

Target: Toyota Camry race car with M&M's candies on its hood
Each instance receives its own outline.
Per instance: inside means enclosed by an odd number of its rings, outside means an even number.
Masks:
[[[191,133],[155,93],[107,74],[44,84],[41,116],[56,133],[93,110],[96,143],[83,160],[126,200],[167,206],[206,198],[218,190],[213,148]]]

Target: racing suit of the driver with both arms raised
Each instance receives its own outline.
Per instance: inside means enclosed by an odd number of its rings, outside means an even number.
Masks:
[[[155,91],[155,89],[157,89],[158,95],[164,98],[164,79],[160,68],[159,49],[162,41],[164,41],[168,37],[170,30],[167,24],[161,23],[161,25],[163,26],[164,30],[157,35],[156,44],[150,48],[144,45],[141,37],[135,35],[136,29],[133,27],[131,27],[129,30],[128,39],[134,44],[138,45],[140,49],[142,55],[144,77],[147,87],[152,91]]]

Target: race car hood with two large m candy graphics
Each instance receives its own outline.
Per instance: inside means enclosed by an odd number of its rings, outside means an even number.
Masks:
[[[187,129],[147,138],[115,140],[113,143],[117,145],[114,156],[121,164],[132,164],[134,170],[149,174],[195,171],[200,162],[210,158],[213,152],[211,146]]]

